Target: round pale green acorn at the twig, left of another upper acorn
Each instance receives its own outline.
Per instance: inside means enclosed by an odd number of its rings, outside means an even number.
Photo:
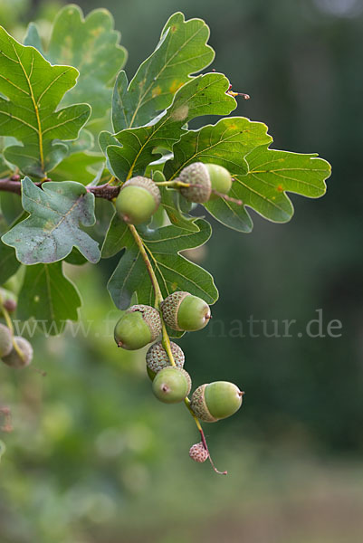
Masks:
[[[141,224],[157,211],[160,201],[160,191],[154,181],[148,177],[137,176],[121,186],[115,205],[122,221]]]

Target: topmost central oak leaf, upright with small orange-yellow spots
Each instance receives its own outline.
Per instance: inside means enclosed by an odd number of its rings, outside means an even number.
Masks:
[[[190,74],[203,70],[215,58],[206,45],[208,38],[209,28],[201,19],[186,21],[181,13],[172,15],[155,51],[129,85],[126,73],[119,73],[112,103],[114,131],[143,126],[165,110]]]

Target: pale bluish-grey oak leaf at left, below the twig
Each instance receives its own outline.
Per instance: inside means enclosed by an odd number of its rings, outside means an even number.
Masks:
[[[100,260],[98,243],[83,232],[80,224],[95,222],[94,196],[74,181],[43,183],[29,177],[22,182],[22,203],[30,216],[5,233],[2,241],[16,250],[24,264],[62,260],[77,247],[90,262]]]

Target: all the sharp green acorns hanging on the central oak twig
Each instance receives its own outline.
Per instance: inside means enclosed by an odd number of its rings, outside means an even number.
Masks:
[[[232,186],[231,175],[224,167],[201,162],[185,167],[177,182],[181,194],[195,203],[227,195]],[[126,223],[141,224],[157,211],[160,200],[158,186],[147,177],[137,176],[121,187],[116,210]],[[211,312],[205,300],[185,291],[169,294],[161,302],[160,312],[151,306],[133,305],[116,324],[114,336],[118,347],[135,350],[155,341],[162,332],[161,318],[170,329],[196,331],[206,326]],[[184,369],[182,349],[171,341],[170,350],[175,366],[171,365],[161,341],[148,348],[146,362],[154,395],[161,402],[176,404],[186,400],[192,382]],[[233,383],[216,381],[198,386],[189,406],[197,419],[214,423],[234,414],[242,405],[243,395]],[[189,455],[196,462],[205,462],[208,451],[204,443],[196,443],[190,448]]]

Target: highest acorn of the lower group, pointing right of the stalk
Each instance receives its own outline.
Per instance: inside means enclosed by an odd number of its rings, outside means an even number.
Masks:
[[[211,310],[206,301],[184,291],[169,294],[161,302],[161,312],[167,326],[179,331],[203,329],[211,319]]]

